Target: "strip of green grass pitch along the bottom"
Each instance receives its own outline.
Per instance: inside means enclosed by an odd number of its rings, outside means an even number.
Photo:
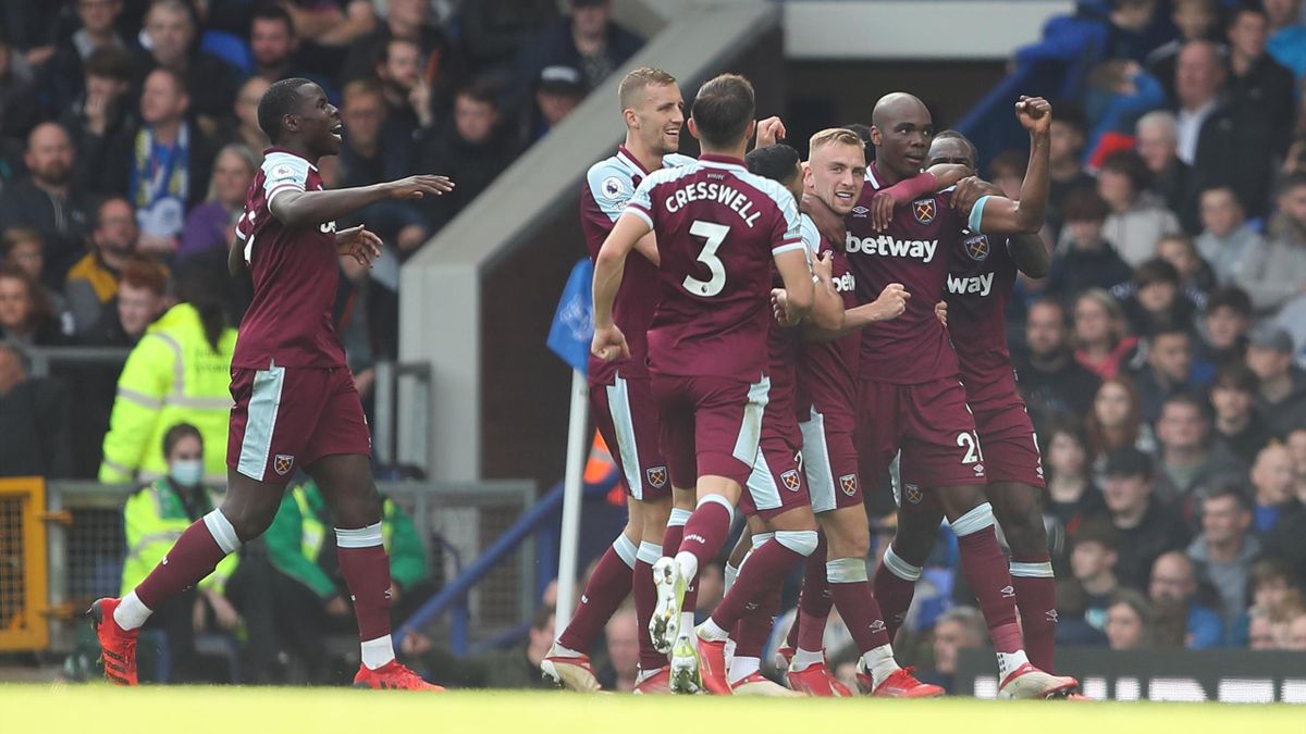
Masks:
[[[1292,705],[760,700],[563,692],[0,684],[5,734],[1151,734],[1306,731]]]

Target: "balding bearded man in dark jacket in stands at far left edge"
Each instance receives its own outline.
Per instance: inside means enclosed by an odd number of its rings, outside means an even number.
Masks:
[[[59,287],[68,268],[82,256],[86,197],[73,182],[76,155],[63,125],[42,123],[27,136],[24,154],[27,176],[7,182],[0,191],[0,230],[29,227],[46,243],[42,282]]]

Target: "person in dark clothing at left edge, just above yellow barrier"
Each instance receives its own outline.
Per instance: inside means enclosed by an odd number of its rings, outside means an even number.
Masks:
[[[0,329],[9,311],[0,270]],[[60,380],[31,377],[17,341],[0,338],[0,477],[72,475],[68,430],[72,404]]]

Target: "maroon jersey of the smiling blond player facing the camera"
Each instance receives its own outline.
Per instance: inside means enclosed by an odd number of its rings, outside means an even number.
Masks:
[[[857,306],[857,277],[848,268],[842,243],[832,242],[816,230],[811,218],[803,214],[803,242],[812,249],[812,257],[833,253],[831,279],[844,299],[844,308]],[[857,426],[853,405],[857,400],[857,364],[862,350],[862,334],[853,332],[827,341],[803,342],[798,355],[798,418],[806,421],[815,409],[825,417],[831,431],[852,432]]]

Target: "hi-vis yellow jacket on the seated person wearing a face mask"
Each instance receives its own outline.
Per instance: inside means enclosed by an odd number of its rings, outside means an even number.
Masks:
[[[213,511],[218,495],[208,488],[200,490],[187,507],[182,495],[167,477],[157,479],[137,490],[123,507],[123,526],[127,535],[127,558],[123,559],[123,592],[136,588],[158,566],[182,533],[200,517]],[[226,588],[227,579],[239,563],[236,554],[223,558],[218,567],[199,584],[200,590],[213,589],[219,594]]]

